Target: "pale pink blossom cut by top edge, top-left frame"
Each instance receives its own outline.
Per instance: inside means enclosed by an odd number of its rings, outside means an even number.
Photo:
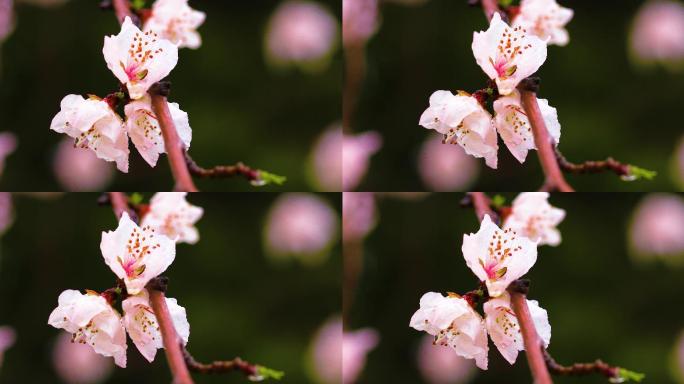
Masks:
[[[202,45],[197,28],[205,18],[206,14],[190,8],[187,0],[157,0],[152,4],[152,16],[143,29],[157,33],[178,48],[196,49]]]

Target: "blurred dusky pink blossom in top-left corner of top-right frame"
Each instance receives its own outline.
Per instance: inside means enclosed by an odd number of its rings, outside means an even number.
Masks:
[[[379,25],[378,0],[342,0],[344,45],[365,43]]]

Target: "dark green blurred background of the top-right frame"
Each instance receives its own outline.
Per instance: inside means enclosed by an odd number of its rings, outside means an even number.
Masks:
[[[560,0],[575,16],[570,44],[549,47],[540,98],[558,109],[560,149],[575,162],[613,156],[658,172],[654,181],[625,183],[613,174],[568,176],[585,191],[672,190],[669,164],[683,126],[682,73],[646,70],[629,59],[633,16],[644,1]],[[430,0],[417,7],[385,3],[382,24],[367,49],[367,77],[352,128],[376,130],[382,150],[359,191],[425,190],[416,168],[420,145],[438,135],[418,125],[432,92],[475,91],[487,76],[475,63],[473,31],[487,27],[482,10],[465,0]],[[543,175],[535,152],[521,165],[499,142],[499,169],[486,168],[475,190],[536,190]]]

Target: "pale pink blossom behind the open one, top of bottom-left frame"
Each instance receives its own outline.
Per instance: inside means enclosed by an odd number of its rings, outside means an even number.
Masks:
[[[142,220],[143,226],[150,226],[177,243],[195,244],[199,233],[195,223],[204,210],[189,204],[185,192],[159,192],[150,199],[150,210]]]

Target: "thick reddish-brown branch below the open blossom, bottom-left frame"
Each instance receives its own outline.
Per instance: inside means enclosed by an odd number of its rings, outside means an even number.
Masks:
[[[152,310],[159,323],[159,329],[162,335],[162,342],[164,343],[164,352],[166,353],[166,360],[169,362],[169,368],[173,374],[174,384],[192,384],[192,377],[188,366],[185,364],[185,357],[181,351],[182,340],[176,333],[176,328],[173,325],[169,308],[166,306],[166,296],[163,290],[155,281],[162,278],[155,278],[147,285],[150,293],[150,304]]]

